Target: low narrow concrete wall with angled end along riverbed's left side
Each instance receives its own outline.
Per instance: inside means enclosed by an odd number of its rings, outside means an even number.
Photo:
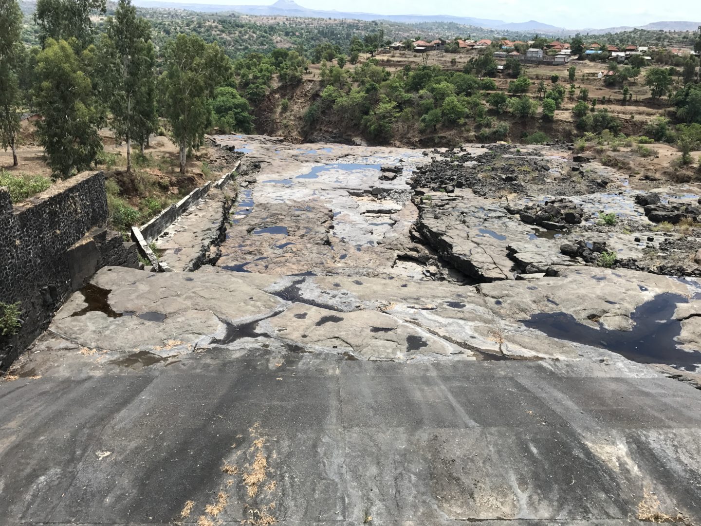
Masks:
[[[192,205],[200,201],[201,198],[205,197],[210,193],[210,189],[218,188],[222,189],[225,184],[231,181],[231,178],[236,174],[236,170],[241,165],[241,161],[236,163],[233,170],[222,176],[217,182],[208,182],[203,186],[194,189],[189,194],[187,194],[180,201],[175,203],[175,205],[170,205],[168,208],[163,210],[160,214],[156,215],[146,224],[141,227],[132,227],[132,241],[137,243],[137,248],[139,253],[149,259],[154,271],[167,272],[170,271],[168,266],[158,262],[158,258],[154,255],[154,252],[149,248],[149,243],[154,241],[158,236],[163,234],[165,229],[168,229],[171,224],[175,223],[178,217],[183,215],[190,209]]]

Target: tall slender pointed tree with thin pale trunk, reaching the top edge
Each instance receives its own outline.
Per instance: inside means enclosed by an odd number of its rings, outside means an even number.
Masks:
[[[151,27],[137,17],[130,0],[119,0],[114,17],[107,19],[100,49],[106,62],[104,76],[109,88],[104,93],[112,114],[111,126],[116,140],[126,143],[130,173],[132,140],[141,140],[144,129],[155,126],[155,93],[148,86],[154,79]]]

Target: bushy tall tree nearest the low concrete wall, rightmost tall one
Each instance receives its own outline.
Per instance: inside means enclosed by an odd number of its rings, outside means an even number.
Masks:
[[[212,123],[211,100],[215,89],[231,74],[229,58],[217,43],[199,36],[179,34],[165,48],[161,76],[163,110],[172,139],[180,151],[180,172],[185,173],[189,149],[198,149]]]

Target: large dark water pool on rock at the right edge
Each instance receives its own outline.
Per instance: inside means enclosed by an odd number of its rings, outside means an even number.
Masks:
[[[688,300],[672,292],[658,294],[631,314],[632,330],[593,328],[579,323],[568,313],[538,313],[523,323],[546,335],[578,344],[602,347],[641,363],[665,363],[683,370],[695,370],[701,353],[676,348],[674,338],[681,332],[675,320],[676,304]]]

